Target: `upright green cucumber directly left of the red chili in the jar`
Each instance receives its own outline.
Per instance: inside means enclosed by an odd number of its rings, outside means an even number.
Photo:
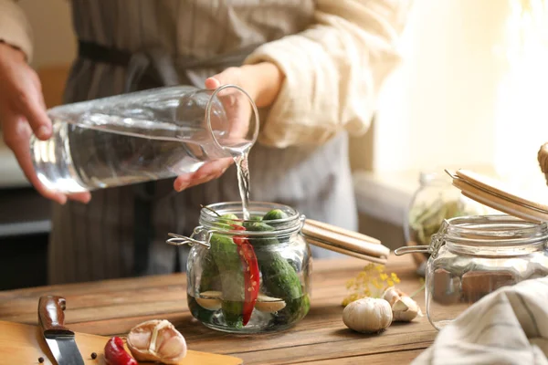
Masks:
[[[245,282],[237,245],[227,235],[211,236],[211,254],[221,276],[222,311],[227,326],[243,328]]]

